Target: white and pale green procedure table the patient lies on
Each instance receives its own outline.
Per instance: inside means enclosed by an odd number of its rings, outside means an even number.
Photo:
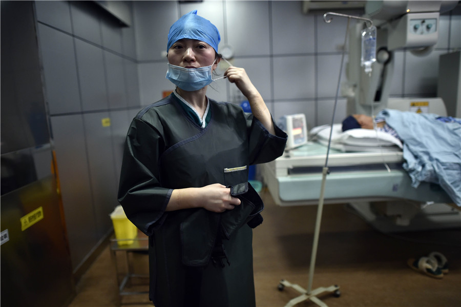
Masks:
[[[415,105],[419,109],[413,110]],[[446,115],[440,98],[389,99],[388,107]],[[366,220],[386,232],[461,227],[459,211],[446,205],[452,200],[438,185],[422,182],[417,188],[411,186],[411,178],[402,168],[403,152],[399,146],[350,144],[331,144],[325,204],[350,203]],[[262,165],[261,175],[276,204],[318,203],[326,151],[322,139],[309,140]]]

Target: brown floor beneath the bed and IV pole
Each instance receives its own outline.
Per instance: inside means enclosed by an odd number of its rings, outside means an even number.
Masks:
[[[307,287],[317,206],[278,207],[266,191],[262,197],[266,205],[264,222],[254,230],[253,240],[257,306],[284,306],[299,294],[291,288],[278,291],[280,279]],[[417,273],[406,264],[408,258],[432,251],[442,252],[449,260],[450,273],[443,279]],[[137,272],[146,272],[145,255],[137,255],[135,262]],[[115,306],[115,283],[110,250],[106,248],[80,280],[70,307]],[[332,307],[459,307],[461,230],[385,235],[344,205],[325,205],[313,289],[332,284],[340,285],[341,297],[319,296]],[[146,295],[124,297],[122,303],[146,306],[135,301],[149,303]],[[301,302],[296,306],[314,305]]]

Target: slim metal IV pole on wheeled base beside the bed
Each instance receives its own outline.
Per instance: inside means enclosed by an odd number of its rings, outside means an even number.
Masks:
[[[323,293],[323,292],[333,292],[334,296],[339,297],[341,295],[341,292],[339,291],[339,285],[331,285],[328,288],[320,287],[317,289],[312,290],[312,280],[313,280],[313,274],[314,274],[314,269],[316,266],[316,257],[317,257],[317,247],[319,245],[319,234],[320,234],[320,223],[322,221],[322,211],[323,211],[323,201],[324,201],[324,196],[325,196],[325,181],[326,181],[326,175],[329,174],[329,169],[328,169],[328,154],[330,151],[330,144],[331,144],[331,134],[332,134],[332,127],[334,123],[334,114],[336,113],[336,106],[338,104],[338,95],[339,95],[339,90],[340,90],[340,85],[341,85],[341,74],[343,71],[343,63],[344,63],[344,55],[346,52],[346,40],[347,40],[347,35],[349,31],[349,22],[350,18],[354,19],[361,19],[365,21],[366,23],[368,22],[370,25],[367,27],[371,27],[373,23],[371,22],[370,19],[367,18],[362,18],[362,17],[357,17],[357,16],[351,16],[351,15],[345,15],[345,14],[339,14],[339,13],[333,13],[333,12],[328,12],[323,15],[323,19],[326,23],[330,23],[332,20],[332,17],[327,19],[327,15],[336,15],[336,16],[342,16],[342,17],[347,17],[347,27],[346,27],[346,35],[344,37],[344,48],[343,48],[343,53],[341,57],[341,66],[340,66],[340,73],[339,73],[339,78],[338,78],[338,87],[336,89],[336,97],[334,98],[334,107],[333,107],[333,115],[331,117],[331,129],[330,129],[330,136],[328,139],[328,148],[327,148],[327,153],[326,153],[326,158],[325,158],[325,166],[322,169],[322,183],[320,187],[320,198],[319,198],[319,207],[317,208],[317,218],[316,218],[316,227],[314,231],[314,238],[312,242],[312,254],[310,257],[310,268],[309,268],[309,283],[307,285],[307,290],[303,289],[300,285],[298,284],[292,284],[284,279],[280,281],[280,284],[278,286],[278,289],[282,291],[285,286],[289,286],[291,288],[294,288],[297,290],[299,293],[301,293],[300,296],[291,299],[285,307],[290,307],[294,306],[297,303],[300,303],[305,300],[310,300],[314,303],[316,303],[319,306],[322,307],[328,307],[324,302],[322,302],[319,298],[317,298],[317,295]]]

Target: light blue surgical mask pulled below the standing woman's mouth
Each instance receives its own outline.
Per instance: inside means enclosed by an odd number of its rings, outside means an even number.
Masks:
[[[185,91],[197,91],[213,82],[212,66],[184,68],[168,63],[166,78]]]

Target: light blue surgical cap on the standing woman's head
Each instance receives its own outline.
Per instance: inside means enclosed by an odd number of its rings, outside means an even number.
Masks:
[[[197,15],[197,10],[189,12],[178,19],[170,28],[168,33],[168,44],[166,50],[179,39],[198,39],[212,46],[218,52],[218,44],[221,40],[218,29],[208,19]]]

